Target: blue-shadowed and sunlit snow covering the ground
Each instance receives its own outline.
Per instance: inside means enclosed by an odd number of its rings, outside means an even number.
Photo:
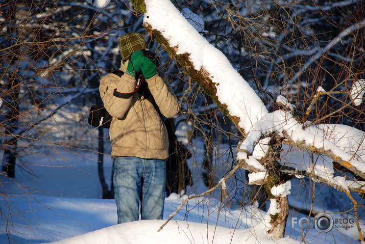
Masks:
[[[287,237],[273,241],[264,231],[264,212],[252,206],[223,209],[218,201],[208,197],[189,202],[157,232],[186,197],[179,198],[176,194],[165,200],[164,220],[116,225],[114,200],[100,199],[96,162],[79,153],[58,152],[62,157],[23,157],[23,162],[28,162],[28,169],[17,169],[14,181],[0,175],[0,207],[4,214],[0,223],[0,244],[54,241],[67,244],[299,243],[294,239],[301,240],[297,222],[304,215],[290,213]],[[96,158],[91,152],[86,155]],[[108,176],[111,160],[109,156],[105,159]],[[8,215],[9,211],[12,216]],[[294,217],[297,222],[291,224]],[[294,229],[291,229],[292,225]],[[333,236],[337,243],[347,243],[348,238],[337,231],[320,234],[314,229],[306,229],[305,234],[308,241],[318,243],[334,243]]]

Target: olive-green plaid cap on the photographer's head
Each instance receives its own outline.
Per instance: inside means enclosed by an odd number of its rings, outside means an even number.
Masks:
[[[121,58],[127,60],[137,50],[148,49],[147,43],[141,35],[130,32],[119,39],[119,51]]]

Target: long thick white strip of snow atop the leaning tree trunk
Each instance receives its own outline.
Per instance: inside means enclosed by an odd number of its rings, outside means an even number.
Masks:
[[[204,69],[215,84],[216,95],[232,116],[240,118],[239,126],[245,130],[257,122],[267,110],[255,91],[232,67],[223,53],[212,46],[180,14],[168,0],[146,0],[144,22],[149,23],[166,38],[177,54],[189,54],[194,69]],[[179,26],[179,28],[176,28]],[[219,67],[217,69],[217,67]]]

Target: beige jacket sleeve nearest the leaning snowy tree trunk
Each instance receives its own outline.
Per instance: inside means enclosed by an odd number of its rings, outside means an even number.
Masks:
[[[146,81],[161,114],[166,118],[174,117],[179,112],[180,104],[167,77],[157,73]]]

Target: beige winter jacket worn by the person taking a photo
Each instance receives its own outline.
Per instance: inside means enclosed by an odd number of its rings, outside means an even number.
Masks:
[[[120,70],[125,72],[126,69],[122,64]],[[162,115],[166,118],[175,116],[179,111],[179,102],[167,78],[156,74],[146,81]],[[109,130],[111,155],[166,159],[167,131],[153,104],[138,92],[127,99],[113,95],[114,89],[121,93],[132,92],[134,83],[135,78],[128,74],[121,77],[107,74],[100,82],[99,91],[104,106],[113,116]]]

